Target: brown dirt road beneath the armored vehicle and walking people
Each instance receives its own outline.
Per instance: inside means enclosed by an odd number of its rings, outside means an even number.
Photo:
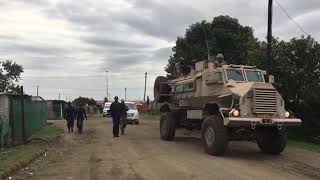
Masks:
[[[111,127],[105,118],[89,119],[84,134],[66,133],[16,179],[320,179],[320,155],[305,150],[273,156],[253,143],[232,142],[224,157],[215,157],[183,131],[173,142],[160,140],[156,121],[129,125],[120,138],[112,137]]]

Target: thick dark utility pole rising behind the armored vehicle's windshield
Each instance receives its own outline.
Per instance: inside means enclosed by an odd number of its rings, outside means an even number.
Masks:
[[[267,71],[268,74],[271,74],[271,63],[272,63],[272,8],[273,8],[273,0],[269,0],[268,4],[268,33],[267,33]]]

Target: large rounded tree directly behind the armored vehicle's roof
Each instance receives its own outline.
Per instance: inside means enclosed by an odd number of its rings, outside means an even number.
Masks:
[[[253,29],[239,24],[238,19],[218,16],[212,22],[201,21],[189,26],[184,37],[178,37],[172,48],[165,70],[176,76],[175,64],[182,66],[192,64],[192,60],[207,59],[209,53],[215,56],[222,53],[228,63],[253,64],[260,51],[260,42],[253,35]]]

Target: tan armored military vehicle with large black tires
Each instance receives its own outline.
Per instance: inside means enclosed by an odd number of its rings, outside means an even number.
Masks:
[[[201,61],[177,79],[158,77],[154,94],[162,113],[161,138],[173,140],[178,128],[199,129],[211,155],[223,155],[228,142],[238,140],[253,140],[261,151],[280,154],[286,127],[301,120],[286,111],[272,76],[266,82],[264,74],[254,66]]]

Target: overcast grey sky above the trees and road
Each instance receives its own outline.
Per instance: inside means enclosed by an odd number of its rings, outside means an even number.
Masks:
[[[278,2],[320,40],[319,0]],[[143,98],[148,72],[152,99],[154,78],[165,75],[177,36],[218,15],[238,18],[265,40],[267,0],[0,0],[0,59],[23,65],[20,84],[31,95],[39,85],[46,99],[59,93],[61,99],[103,99],[106,70],[111,96],[123,98],[127,87],[128,99]],[[302,34],[274,2],[274,36]],[[73,78],[46,78],[66,76]]]

